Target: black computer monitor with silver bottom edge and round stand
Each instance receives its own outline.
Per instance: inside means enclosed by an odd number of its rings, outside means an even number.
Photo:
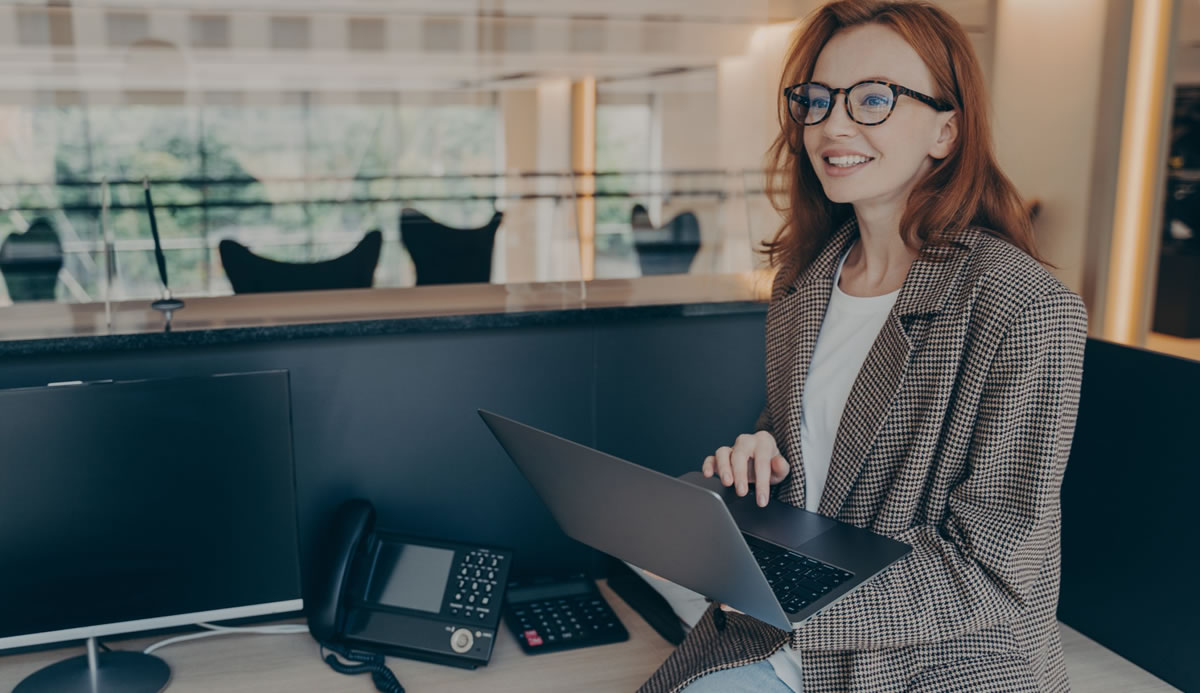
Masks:
[[[300,610],[287,372],[0,391],[0,652],[92,655],[18,691],[160,691],[92,639]]]

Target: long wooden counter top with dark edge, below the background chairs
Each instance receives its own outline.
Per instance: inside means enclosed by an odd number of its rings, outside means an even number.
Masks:
[[[530,284],[185,297],[172,331],[150,301],[20,303],[0,308],[0,355],[124,351],[764,312],[770,275],[664,275]]]

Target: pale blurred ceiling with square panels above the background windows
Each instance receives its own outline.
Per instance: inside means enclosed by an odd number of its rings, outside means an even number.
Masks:
[[[937,4],[980,36],[989,31],[995,1]],[[0,0],[0,91],[462,90],[581,76],[650,79],[660,88],[671,82],[686,90],[707,84],[704,72],[722,58],[745,54],[755,29],[806,14],[820,0],[60,5],[66,7],[48,11],[47,0]],[[215,28],[218,46],[204,43],[204,26]],[[170,46],[131,48],[148,37]],[[1180,40],[1181,60],[1200,56],[1200,0],[1182,1]]]

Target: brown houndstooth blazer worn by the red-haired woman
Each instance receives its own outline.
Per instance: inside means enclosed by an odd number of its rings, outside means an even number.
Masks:
[[[804,506],[800,394],[838,261],[839,229],[767,312],[767,408]],[[791,633],[713,610],[647,681],[799,651],[806,693],[1067,691],[1058,489],[1074,433],[1087,314],[1026,253],[984,230],[913,263],[850,393],[822,514],[912,544],[875,580]],[[794,272],[793,272],[794,273]],[[784,278],[787,272],[780,271]]]

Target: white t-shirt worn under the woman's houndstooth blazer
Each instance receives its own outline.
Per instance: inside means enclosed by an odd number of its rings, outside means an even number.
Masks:
[[[842,255],[800,400],[800,454],[804,458],[808,490],[804,505],[812,512],[821,505],[821,493],[829,477],[833,441],[838,435],[838,423],[846,409],[846,400],[850,399],[850,390],[900,295],[899,289],[882,296],[846,294],[838,288],[845,264],[846,255]],[[647,581],[666,597],[689,627],[700,620],[708,605],[703,596],[674,583],[649,577]],[[784,683],[797,693],[803,692],[804,675],[798,652],[785,646],[767,661]]]

